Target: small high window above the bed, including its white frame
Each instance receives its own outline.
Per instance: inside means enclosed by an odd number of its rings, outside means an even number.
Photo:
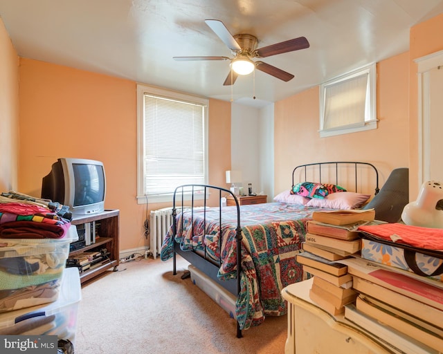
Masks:
[[[320,86],[320,137],[377,128],[376,66]]]

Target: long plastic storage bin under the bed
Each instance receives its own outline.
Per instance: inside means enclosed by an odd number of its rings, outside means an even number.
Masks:
[[[194,265],[189,265],[188,270],[190,271],[192,283],[197,285],[206,295],[217,302],[231,318],[237,319],[237,315],[235,315],[236,297],[215,283],[213,279],[210,279],[204,272],[195,268]]]

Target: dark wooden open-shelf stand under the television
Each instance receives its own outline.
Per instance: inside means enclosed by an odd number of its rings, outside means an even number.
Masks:
[[[69,252],[69,257],[81,254],[85,251],[101,250],[106,248],[109,254],[109,262],[106,262],[96,268],[91,270],[85,270],[80,272],[80,281],[84,283],[97,277],[99,274],[113,268],[116,270],[119,261],[119,248],[118,248],[118,237],[119,237],[119,224],[120,224],[120,210],[118,209],[107,209],[105,212],[98,214],[92,214],[87,216],[80,216],[78,218],[73,218],[71,221],[72,225],[81,225],[84,223],[91,223],[96,221],[97,235],[95,243],[91,245],[84,246],[78,250]]]

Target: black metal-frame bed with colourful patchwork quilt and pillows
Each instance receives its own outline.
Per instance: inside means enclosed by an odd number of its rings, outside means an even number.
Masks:
[[[313,180],[315,183],[310,182]],[[377,194],[379,174],[368,162],[299,165],[292,171],[291,188],[278,194],[277,201],[242,206],[223,187],[182,185],[174,192],[173,223],[163,241],[161,259],[172,258],[177,274],[179,254],[234,294],[237,337],[242,337],[242,330],[261,324],[267,315],[287,313],[281,290],[304,277],[295,255],[305,241],[312,212],[325,207],[343,209],[346,205],[338,203],[340,199],[352,199],[349,207],[361,206],[370,198],[362,193],[362,186],[368,190],[368,183],[371,194]],[[345,191],[340,190],[343,186]],[[209,195],[217,196],[217,206],[206,205]],[[228,195],[233,196],[235,206],[223,206]]]

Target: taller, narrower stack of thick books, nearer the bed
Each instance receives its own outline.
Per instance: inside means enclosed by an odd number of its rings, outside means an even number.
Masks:
[[[297,254],[296,261],[314,276],[309,297],[331,315],[343,313],[344,306],[356,300],[352,276],[339,261],[361,250],[357,227],[374,216],[373,209],[314,212],[307,223],[305,252]]]

